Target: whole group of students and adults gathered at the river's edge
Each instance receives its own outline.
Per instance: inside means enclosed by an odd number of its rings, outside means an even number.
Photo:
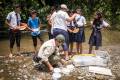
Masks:
[[[10,56],[13,52],[13,45],[16,40],[18,52],[20,52],[21,39],[21,18],[20,6],[15,5],[14,11],[10,12],[6,18],[6,23],[9,25],[10,39]],[[40,40],[40,49],[33,57],[35,62],[43,62],[48,66],[48,69],[53,70],[52,62],[69,60],[69,53],[73,52],[73,43],[76,42],[76,53],[82,54],[82,43],[85,42],[84,26],[86,19],[82,15],[80,8],[75,11],[69,11],[67,5],[61,4],[59,10],[52,9],[51,13],[46,18],[48,22],[48,41],[44,42],[40,34],[41,21],[37,17],[37,12],[32,10],[27,23],[27,29],[31,31],[35,52],[37,52],[37,38]],[[92,47],[96,46],[98,50],[102,44],[101,29],[109,24],[102,18],[100,12],[96,12],[92,22],[92,33],[89,39],[89,54],[92,53]],[[62,57],[61,57],[62,55]]]

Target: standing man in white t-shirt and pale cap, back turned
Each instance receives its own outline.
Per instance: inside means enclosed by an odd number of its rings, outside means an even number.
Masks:
[[[67,6],[65,4],[61,4],[60,10],[57,11],[53,20],[53,37],[56,37],[58,34],[62,34],[65,37],[65,44],[63,45],[63,49],[65,52],[65,59],[68,59],[68,45],[69,45],[69,35],[67,31],[67,21],[72,21],[76,14],[73,14],[72,17],[69,17],[67,13]]]

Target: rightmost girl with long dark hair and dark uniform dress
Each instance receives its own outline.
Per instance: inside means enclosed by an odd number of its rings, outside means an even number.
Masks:
[[[96,12],[92,23],[93,30],[89,39],[89,54],[91,54],[93,46],[95,46],[95,50],[98,50],[102,45],[101,29],[107,27],[108,25],[109,24],[102,19],[101,12]]]

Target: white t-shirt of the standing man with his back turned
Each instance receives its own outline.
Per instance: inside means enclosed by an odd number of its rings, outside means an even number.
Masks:
[[[59,10],[53,19],[53,29],[58,28],[67,31],[67,18],[69,18],[67,12]]]

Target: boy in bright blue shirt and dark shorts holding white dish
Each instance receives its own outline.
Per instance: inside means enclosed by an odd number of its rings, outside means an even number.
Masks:
[[[37,17],[37,12],[35,10],[32,10],[30,13],[30,17],[28,19],[28,26],[29,29],[31,30],[31,35],[33,39],[33,45],[35,52],[37,51],[37,38],[40,40],[40,45],[42,45],[43,40],[41,39],[40,36],[40,20]]]

